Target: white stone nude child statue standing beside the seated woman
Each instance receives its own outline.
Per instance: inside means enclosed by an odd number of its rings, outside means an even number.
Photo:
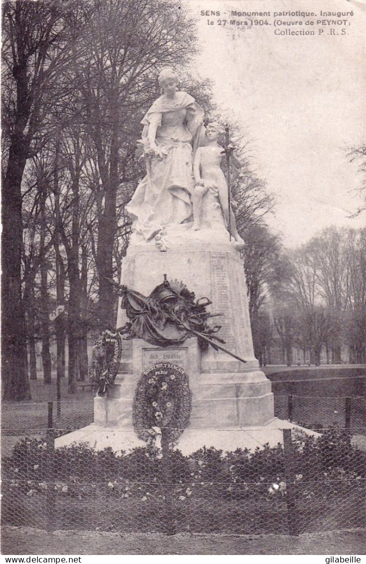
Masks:
[[[195,179],[195,188],[192,195],[193,204],[193,229],[198,231],[200,229],[200,215],[202,211],[202,198],[207,191],[210,191],[218,201],[224,214],[226,228],[229,231],[229,224],[231,227],[231,235],[234,237],[236,243],[244,244],[242,237],[240,237],[236,230],[236,222],[233,210],[229,210],[229,194],[227,190],[227,183],[225,175],[220,167],[222,154],[229,151],[231,163],[235,168],[240,168],[241,163],[236,157],[233,146],[223,147],[218,145],[218,135],[224,133],[224,128],[217,122],[211,122],[206,128],[206,144],[204,147],[198,147],[193,163],[193,174]],[[230,222],[229,222],[230,213]]]

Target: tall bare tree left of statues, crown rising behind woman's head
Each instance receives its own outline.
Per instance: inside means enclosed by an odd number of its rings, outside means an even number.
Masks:
[[[158,65],[186,63],[193,53],[194,24],[184,7],[167,0],[104,0],[81,42],[88,49],[75,57],[74,74],[98,177],[91,187],[97,206],[99,317],[106,326],[113,324],[115,302],[107,279],[113,277],[117,195],[135,153],[137,120],[155,96]]]

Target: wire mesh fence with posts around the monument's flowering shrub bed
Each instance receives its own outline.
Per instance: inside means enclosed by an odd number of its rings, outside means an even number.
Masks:
[[[3,523],[166,534],[366,526],[365,452],[353,440],[364,433],[363,398],[278,396],[275,415],[322,425],[320,434],[284,429],[275,447],[222,452],[207,445],[189,456],[171,448],[164,428],[161,446],[130,453],[87,443],[55,448],[56,437],[93,420],[90,398],[59,407],[3,406]]]

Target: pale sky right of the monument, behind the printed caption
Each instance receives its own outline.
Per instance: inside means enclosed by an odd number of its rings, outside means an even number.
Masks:
[[[287,246],[306,243],[323,228],[363,227],[357,166],[346,148],[366,138],[366,0],[188,0],[197,19],[200,54],[195,68],[213,81],[214,99],[238,121],[249,140],[251,161],[276,201],[267,222]],[[353,16],[320,16],[353,11]],[[220,11],[220,17],[201,10]],[[271,25],[220,26],[223,12],[270,11]],[[302,20],[315,36],[276,36],[274,11],[313,11]],[[263,18],[262,18],[263,19]],[[347,19],[350,25],[316,25]],[[208,25],[207,20],[214,21]],[[314,27],[304,24],[314,20]],[[330,29],[336,34],[330,35]],[[319,29],[324,32],[319,34]],[[342,35],[341,29],[346,30]]]

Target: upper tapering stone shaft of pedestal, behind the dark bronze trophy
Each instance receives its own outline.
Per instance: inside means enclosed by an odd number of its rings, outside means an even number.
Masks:
[[[221,325],[218,336],[225,340],[225,348],[245,359],[240,363],[222,351],[209,347],[200,356],[200,372],[242,372],[257,370],[258,361],[253,352],[251,323],[249,319],[247,287],[243,261],[227,232],[212,230],[191,231],[190,224],[178,226],[169,234],[170,248],[159,252],[155,245],[132,245],[122,264],[122,284],[148,296],[163,275],[169,281],[186,284],[196,298],[212,301],[211,311],[221,314],[212,319]],[[179,231],[181,233],[179,233]],[[213,239],[215,234],[215,239]],[[208,308],[209,309],[209,308]],[[118,309],[117,327],[126,323],[126,314]],[[134,372],[132,342],[125,342],[121,369]]]

